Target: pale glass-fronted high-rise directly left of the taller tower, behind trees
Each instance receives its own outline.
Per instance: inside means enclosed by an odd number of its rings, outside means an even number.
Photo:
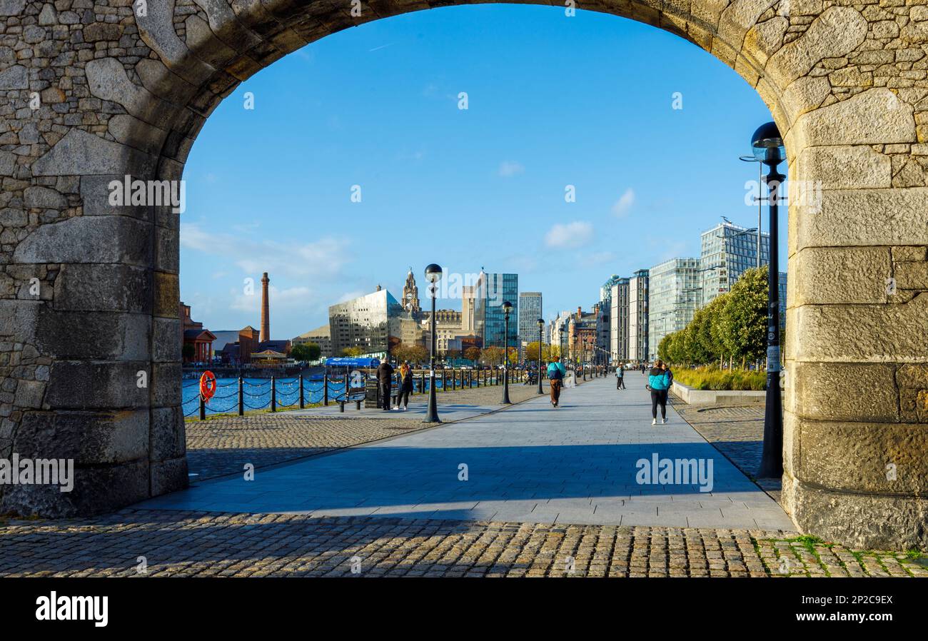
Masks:
[[[648,359],[667,334],[687,327],[699,308],[700,259],[672,258],[648,271]]]

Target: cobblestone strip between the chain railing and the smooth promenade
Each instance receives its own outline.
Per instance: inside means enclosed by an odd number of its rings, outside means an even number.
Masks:
[[[502,394],[499,386],[438,393],[438,404],[456,406],[496,406]],[[509,386],[509,400],[520,403],[537,396],[536,386]],[[421,395],[411,398],[410,407],[424,402]],[[277,465],[305,456],[377,441],[407,431],[425,429],[419,417],[411,414],[380,416],[367,414],[304,414],[313,410],[251,414],[245,417],[216,417],[187,421],[187,465],[195,481],[241,472],[246,463],[255,468]],[[382,414],[386,414],[385,412]]]

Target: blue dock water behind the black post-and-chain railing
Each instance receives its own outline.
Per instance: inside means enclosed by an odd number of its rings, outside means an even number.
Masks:
[[[425,380],[425,389],[428,391],[428,378]],[[435,379],[436,390],[442,389],[442,379]],[[483,382],[483,381],[482,381]],[[200,380],[187,378],[182,381],[183,396],[182,406],[185,417],[195,417],[200,412]],[[457,385],[461,382],[458,379]],[[323,381],[310,380],[303,378],[303,401],[305,404],[322,403],[324,394],[322,390]],[[299,407],[300,406],[300,379],[299,378],[278,378],[277,387],[277,407]],[[420,377],[413,378],[413,389],[421,391],[422,380]],[[448,380],[448,387],[451,387],[451,380]],[[473,387],[476,387],[474,381]],[[351,392],[364,391],[363,387],[351,387]],[[344,393],[344,379],[329,379],[329,403],[334,403]],[[243,378],[242,395],[245,404],[245,411],[255,409],[267,409],[271,406],[271,379],[270,378]],[[238,413],[238,378],[216,378],[216,393],[213,398],[206,404],[207,414],[226,414]]]

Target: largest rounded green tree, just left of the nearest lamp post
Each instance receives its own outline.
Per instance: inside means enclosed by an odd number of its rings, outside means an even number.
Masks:
[[[720,325],[728,353],[754,360],[767,353],[767,267],[749,269],[732,286]]]

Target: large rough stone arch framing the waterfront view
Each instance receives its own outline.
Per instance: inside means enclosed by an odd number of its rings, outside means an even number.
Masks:
[[[0,508],[92,514],[187,483],[178,217],[110,205],[110,180],[179,179],[216,105],[291,51],[457,4],[468,3],[0,3],[0,455],[79,468],[73,493],[6,488]],[[790,209],[784,495],[804,531],[928,545],[925,0],[577,8],[677,33],[727,63],[778,122],[793,182],[820,183],[820,207]]]

